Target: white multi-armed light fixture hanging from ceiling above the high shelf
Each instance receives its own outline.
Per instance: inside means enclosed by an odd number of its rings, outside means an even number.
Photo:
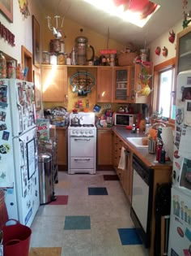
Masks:
[[[50,16],[47,16],[46,19],[48,20],[48,28],[49,30],[53,31],[53,35],[59,39],[62,37],[62,27],[63,27],[63,22],[64,22],[64,17],[55,15],[53,19]],[[60,26],[59,26],[59,19],[62,19]],[[51,20],[53,20],[51,24]]]

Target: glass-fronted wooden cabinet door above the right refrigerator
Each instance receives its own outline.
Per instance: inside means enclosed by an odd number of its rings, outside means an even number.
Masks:
[[[191,69],[191,27],[185,28],[177,34],[176,67],[177,74]]]

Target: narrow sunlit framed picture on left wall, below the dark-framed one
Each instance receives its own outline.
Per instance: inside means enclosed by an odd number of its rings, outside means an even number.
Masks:
[[[41,89],[40,89],[40,68],[33,70],[33,81],[35,85],[35,106],[36,111],[41,109]]]

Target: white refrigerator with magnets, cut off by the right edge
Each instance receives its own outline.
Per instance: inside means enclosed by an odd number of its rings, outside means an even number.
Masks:
[[[191,70],[177,76],[170,255],[191,256]]]

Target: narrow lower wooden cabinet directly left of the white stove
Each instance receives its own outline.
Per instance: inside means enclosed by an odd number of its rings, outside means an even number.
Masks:
[[[67,129],[57,128],[57,165],[59,171],[67,170]]]

